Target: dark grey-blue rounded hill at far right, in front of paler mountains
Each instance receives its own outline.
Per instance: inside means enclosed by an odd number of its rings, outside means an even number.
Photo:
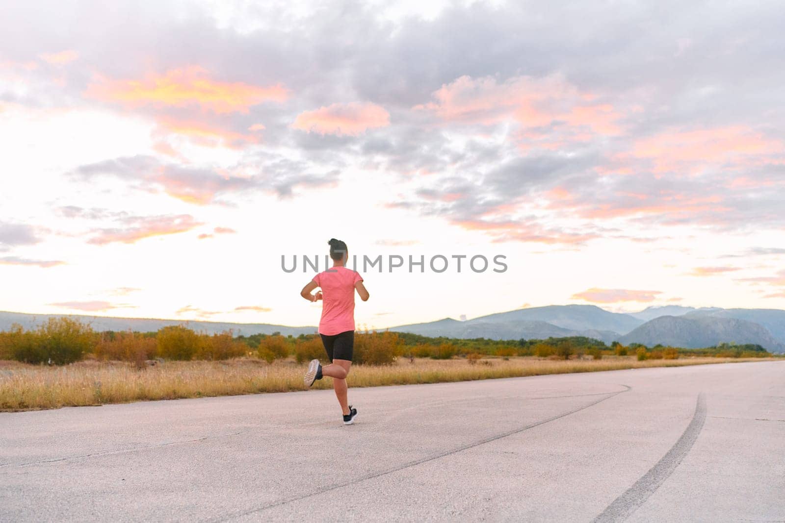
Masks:
[[[762,325],[736,318],[714,316],[661,316],[647,321],[626,336],[619,338],[625,345],[643,343],[697,349],[718,343],[757,343],[773,352],[785,351],[785,345],[775,340]]]

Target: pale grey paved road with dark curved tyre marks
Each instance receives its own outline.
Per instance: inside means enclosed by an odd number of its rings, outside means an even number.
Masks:
[[[0,521],[785,521],[785,361],[0,413]]]

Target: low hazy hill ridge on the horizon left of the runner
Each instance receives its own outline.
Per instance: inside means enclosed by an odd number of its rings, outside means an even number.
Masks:
[[[280,332],[283,336],[299,336],[300,334],[313,334],[316,327],[287,327],[286,325],[271,325],[268,323],[229,323],[220,321],[181,321],[159,320],[148,318],[111,318],[108,316],[87,316],[82,314],[24,314],[20,312],[0,311],[0,331],[8,330],[11,325],[18,323],[25,329],[40,325],[49,318],[61,317],[75,318],[89,323],[97,331],[126,331],[155,332],[168,325],[186,325],[189,329],[203,331],[208,334],[225,332],[232,329],[235,335],[243,334],[272,334]]]

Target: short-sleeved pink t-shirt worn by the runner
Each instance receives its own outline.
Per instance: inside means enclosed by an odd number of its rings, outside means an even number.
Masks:
[[[357,271],[332,267],[313,277],[322,288],[322,319],[319,334],[334,336],[354,330],[354,284],[363,281]]]

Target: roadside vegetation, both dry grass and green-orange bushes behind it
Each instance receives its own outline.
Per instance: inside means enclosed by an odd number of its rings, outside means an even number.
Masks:
[[[607,346],[582,337],[455,340],[358,332],[352,387],[699,365],[771,358],[757,345]],[[302,390],[303,365],[326,354],[319,336],[94,332],[71,318],[0,332],[0,410]],[[329,379],[316,388],[329,388]]]

